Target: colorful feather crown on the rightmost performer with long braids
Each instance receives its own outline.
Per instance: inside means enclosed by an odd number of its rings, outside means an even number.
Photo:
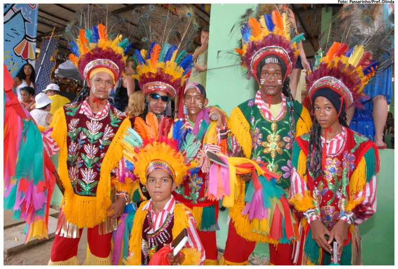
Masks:
[[[363,46],[351,49],[344,43],[334,42],[324,55],[315,56],[315,71],[306,76],[309,98],[321,88],[330,88],[344,97],[345,107],[361,107],[366,98],[363,88],[378,68],[378,62]]]

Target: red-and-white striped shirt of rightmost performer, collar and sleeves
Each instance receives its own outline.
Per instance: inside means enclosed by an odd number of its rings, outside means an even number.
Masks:
[[[327,154],[336,154],[337,152],[340,151],[341,147],[343,147],[343,142],[344,142],[344,136],[347,135],[347,131],[345,127],[343,128],[343,132],[340,134],[334,136],[330,141],[326,141],[326,147],[327,147]],[[321,137],[321,142],[322,142],[322,147],[325,143],[325,139]],[[291,174],[291,184],[290,184],[290,191],[289,191],[289,199],[294,197],[296,194],[301,193],[301,196],[303,197],[305,194],[305,191],[309,190],[307,183],[304,181],[303,178],[300,177],[300,175],[297,173],[296,168],[293,168],[292,174]],[[366,219],[368,219],[371,215],[373,215],[376,212],[376,176],[373,176],[368,183],[364,186],[363,190],[360,191],[359,193],[355,193],[354,197],[352,197],[354,200],[359,199],[360,197],[363,198],[363,204],[366,205],[366,211],[365,211],[365,219],[356,219],[354,220],[355,224],[360,224],[364,222]],[[304,213],[304,216],[307,219],[308,224],[311,221],[314,221],[316,219],[319,219],[320,216],[316,214],[309,214],[309,211],[313,210],[308,210],[307,212]],[[350,214],[345,214],[343,217],[340,218],[341,220],[344,220],[345,222],[352,224],[352,213]]]

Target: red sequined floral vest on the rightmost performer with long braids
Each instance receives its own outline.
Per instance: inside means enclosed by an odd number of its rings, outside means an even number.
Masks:
[[[297,137],[296,140],[307,156],[309,133]],[[365,136],[344,128],[343,146],[336,154],[326,155],[324,175],[320,174],[313,179],[311,173],[307,174],[312,203],[316,206],[315,213],[321,216],[321,221],[328,230],[331,230],[343,217],[350,199],[350,177],[357,169],[359,158],[371,144],[372,142]]]

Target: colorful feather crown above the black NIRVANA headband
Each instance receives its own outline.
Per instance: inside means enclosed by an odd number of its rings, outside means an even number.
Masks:
[[[235,50],[241,56],[241,65],[248,69],[249,76],[258,80],[257,66],[267,55],[277,55],[285,62],[285,78],[291,74],[300,54],[297,44],[304,40],[304,36],[300,34],[290,38],[290,20],[286,13],[281,15],[274,10],[271,14],[261,15],[259,20],[250,17],[241,26],[241,33],[241,48]]]

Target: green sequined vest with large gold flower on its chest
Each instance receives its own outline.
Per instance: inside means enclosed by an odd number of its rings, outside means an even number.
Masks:
[[[285,114],[278,120],[268,120],[258,106],[254,104],[254,98],[238,106],[250,126],[250,136],[252,137],[250,159],[268,163],[267,169],[281,176],[277,179],[277,184],[286,191],[286,195],[290,188],[292,171],[290,160],[293,141],[291,136],[295,135],[290,130],[290,106],[291,104],[286,100]],[[293,107],[295,109],[294,132],[296,132],[296,124],[303,106],[294,101]]]

